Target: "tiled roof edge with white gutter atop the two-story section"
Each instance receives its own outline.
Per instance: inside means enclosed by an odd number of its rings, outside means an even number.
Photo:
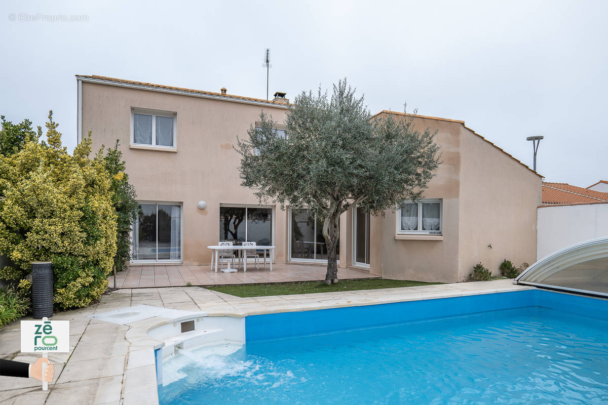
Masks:
[[[133,80],[125,80],[125,79],[117,79],[114,77],[106,77],[106,76],[98,76],[98,75],[76,75],[78,80],[90,81],[93,83],[100,84],[109,84],[114,86],[125,86],[125,87],[139,87],[140,89],[145,90],[156,90],[156,91],[165,91],[165,92],[179,92],[183,94],[189,95],[198,95],[198,96],[209,96],[212,98],[224,98],[232,101],[241,101],[241,102],[249,102],[249,103],[263,103],[263,104],[271,104],[275,107],[283,107],[286,108],[287,104],[285,101],[274,101],[274,100],[264,100],[263,98],[253,98],[253,97],[244,97],[240,95],[234,94],[222,94],[216,92],[207,92],[204,90],[195,90],[195,89],[187,89],[185,87],[174,87],[174,86],[165,86],[164,84],[154,84],[154,83],[145,83],[143,81],[133,81]]]

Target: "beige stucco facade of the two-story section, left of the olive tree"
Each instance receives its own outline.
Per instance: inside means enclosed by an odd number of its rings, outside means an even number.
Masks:
[[[177,152],[130,148],[131,107],[177,113]],[[262,107],[187,95],[82,84],[82,128],[92,131],[93,148],[114,145],[120,150],[138,200],[183,203],[184,264],[209,264],[207,245],[219,239],[219,205],[257,204],[252,191],[240,186],[240,158],[232,148],[247,136]],[[264,107],[283,122],[286,109]],[[199,200],[207,208],[198,209]],[[285,262],[286,213],[275,209],[277,262]]]

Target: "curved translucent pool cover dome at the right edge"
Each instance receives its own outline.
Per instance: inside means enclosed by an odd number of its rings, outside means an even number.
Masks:
[[[551,253],[523,271],[513,284],[608,297],[608,237]]]

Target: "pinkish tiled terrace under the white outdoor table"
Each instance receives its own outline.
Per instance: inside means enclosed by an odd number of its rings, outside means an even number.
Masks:
[[[145,287],[184,287],[191,285],[251,284],[289,281],[322,281],[325,280],[327,268],[321,265],[274,264],[272,271],[260,266],[257,270],[247,265],[247,272],[239,269],[237,273],[215,273],[208,265],[204,266],[131,266],[128,270],[116,274],[118,288]],[[364,271],[338,269],[339,279],[376,278]],[[109,286],[114,287],[114,277],[109,277]]]

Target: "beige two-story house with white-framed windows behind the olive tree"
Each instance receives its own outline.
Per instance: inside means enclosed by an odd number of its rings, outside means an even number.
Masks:
[[[283,123],[288,100],[282,94],[268,101],[226,89],[82,75],[77,86],[78,140],[91,131],[96,149],[118,139],[137,190],[142,215],[134,223],[133,263],[209,264],[206,247],[219,240],[275,245],[277,263],[326,262],[322,223],[311,211],[258,205],[240,186],[233,145],[261,111]],[[406,118],[379,113],[387,114]],[[343,214],[340,267],[455,282],[477,262],[495,273],[505,258],[533,262],[541,176],[464,121],[418,115],[415,124],[438,129],[443,159],[425,199],[384,217],[357,209]]]

